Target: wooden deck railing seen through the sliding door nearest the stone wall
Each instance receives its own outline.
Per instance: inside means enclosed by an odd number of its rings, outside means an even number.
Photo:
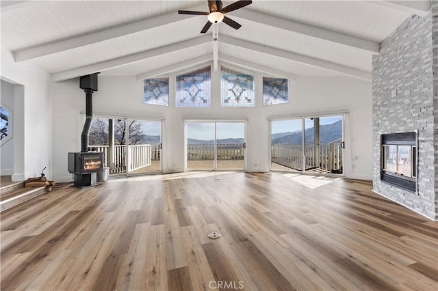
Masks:
[[[275,143],[271,146],[271,158],[279,159],[289,165],[296,165],[302,168],[321,168],[328,171],[342,169],[342,139],[331,143],[320,143],[315,153],[315,146],[306,144],[304,152],[300,143]],[[318,154],[315,155],[315,154]]]

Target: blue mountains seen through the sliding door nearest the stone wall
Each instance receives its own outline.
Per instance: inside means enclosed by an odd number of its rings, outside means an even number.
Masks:
[[[277,133],[276,135],[280,135]],[[305,130],[306,143],[313,143],[313,127]],[[342,120],[334,122],[333,124],[324,124],[320,126],[320,143],[331,143],[337,139],[342,139]],[[283,135],[280,137],[274,137],[272,135],[271,144],[275,143],[301,143],[302,135],[301,130],[298,130],[289,135]]]

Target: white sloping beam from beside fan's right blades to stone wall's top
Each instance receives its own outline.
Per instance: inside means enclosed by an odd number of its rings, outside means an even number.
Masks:
[[[377,42],[363,40],[361,38],[347,36],[346,34],[295,23],[293,21],[261,14],[258,12],[240,9],[233,11],[233,16],[250,20],[255,23],[261,23],[263,25],[269,25],[270,27],[284,29],[294,33],[300,33],[302,35],[310,36],[312,38],[319,38],[321,40],[327,40],[329,42],[335,42],[337,44],[344,44],[346,46],[358,48],[360,50],[368,51],[374,54],[378,54],[380,52],[380,45]]]

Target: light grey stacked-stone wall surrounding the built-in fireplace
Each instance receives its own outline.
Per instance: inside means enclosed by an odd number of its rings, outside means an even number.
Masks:
[[[426,16],[412,16],[385,41],[372,61],[373,188],[394,201],[437,219],[436,186],[437,80],[433,70],[438,59],[436,1]],[[435,85],[435,86],[434,86]],[[391,92],[397,94],[392,97]],[[418,193],[411,193],[380,180],[382,133],[418,130]]]

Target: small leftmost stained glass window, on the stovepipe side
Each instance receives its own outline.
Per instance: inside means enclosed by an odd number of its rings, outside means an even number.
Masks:
[[[169,78],[144,80],[143,103],[169,106]]]

